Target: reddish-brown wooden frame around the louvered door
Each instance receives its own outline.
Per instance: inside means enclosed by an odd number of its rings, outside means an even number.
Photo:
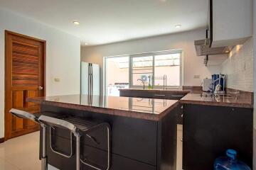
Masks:
[[[44,88],[44,91],[43,91],[43,96],[46,96],[46,40],[41,40],[41,39],[38,39],[38,38],[33,38],[31,36],[28,36],[28,35],[23,35],[23,34],[20,34],[20,33],[14,33],[10,30],[5,30],[5,47],[4,47],[4,141],[8,140],[6,138],[6,134],[7,134],[7,113],[8,111],[6,111],[6,77],[7,77],[7,72],[6,72],[6,65],[7,65],[7,35],[16,35],[16,36],[19,36],[21,38],[26,38],[26,39],[30,39],[30,40],[36,40],[38,42],[41,42],[43,44],[43,88]]]

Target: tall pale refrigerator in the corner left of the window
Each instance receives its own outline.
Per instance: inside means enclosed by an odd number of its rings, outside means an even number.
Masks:
[[[100,95],[100,66],[81,62],[81,94]]]

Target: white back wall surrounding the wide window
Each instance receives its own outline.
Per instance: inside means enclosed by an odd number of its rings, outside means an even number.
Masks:
[[[184,75],[183,85],[201,86],[201,80],[203,78],[210,78],[211,74],[220,72],[220,66],[205,67],[203,64],[203,57],[196,56],[194,40],[201,40],[206,38],[205,34],[205,29],[200,29],[184,33],[160,35],[139,40],[117,42],[109,45],[82,47],[81,60],[84,62],[100,64],[101,68],[103,68],[103,57],[107,56],[182,49]],[[200,75],[200,79],[194,79],[194,75]]]

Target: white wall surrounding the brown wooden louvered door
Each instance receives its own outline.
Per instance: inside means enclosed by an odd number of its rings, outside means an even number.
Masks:
[[[46,40],[47,96],[80,93],[79,38],[0,8],[0,137],[4,137],[4,30]]]

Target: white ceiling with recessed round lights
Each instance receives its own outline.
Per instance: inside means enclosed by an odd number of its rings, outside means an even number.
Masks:
[[[0,6],[75,35],[82,45],[100,45],[205,27],[208,0],[0,0]]]

